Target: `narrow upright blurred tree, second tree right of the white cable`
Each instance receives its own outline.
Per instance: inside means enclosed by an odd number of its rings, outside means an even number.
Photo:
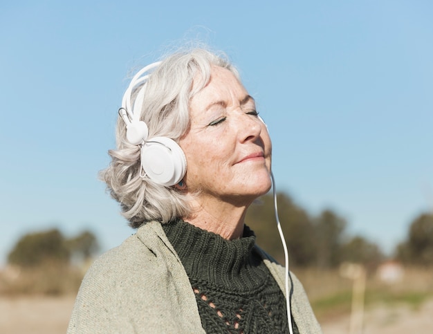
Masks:
[[[346,221],[331,210],[324,210],[315,219],[317,266],[333,268],[341,261],[341,245]]]

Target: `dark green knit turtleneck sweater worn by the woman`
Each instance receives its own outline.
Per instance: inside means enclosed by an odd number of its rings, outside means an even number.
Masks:
[[[207,333],[288,333],[286,300],[248,227],[232,241],[184,221],[163,229],[185,267]]]

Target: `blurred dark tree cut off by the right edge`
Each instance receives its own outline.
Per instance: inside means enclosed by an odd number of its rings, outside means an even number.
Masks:
[[[421,214],[411,223],[407,241],[396,252],[404,263],[433,265],[433,214]]]

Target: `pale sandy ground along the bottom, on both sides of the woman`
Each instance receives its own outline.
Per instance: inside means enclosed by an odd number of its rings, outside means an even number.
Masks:
[[[0,333],[66,333],[73,301],[73,296],[0,297]],[[377,305],[367,310],[364,319],[363,334],[432,333],[433,300],[415,310]],[[322,329],[324,334],[349,333],[349,315],[323,321]]]

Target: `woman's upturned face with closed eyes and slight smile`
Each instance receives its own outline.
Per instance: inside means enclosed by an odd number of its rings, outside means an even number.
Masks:
[[[225,68],[212,67],[210,82],[191,99],[190,129],[179,145],[187,158],[187,189],[200,189],[203,205],[206,198],[242,205],[270,189],[266,125],[254,99]]]

